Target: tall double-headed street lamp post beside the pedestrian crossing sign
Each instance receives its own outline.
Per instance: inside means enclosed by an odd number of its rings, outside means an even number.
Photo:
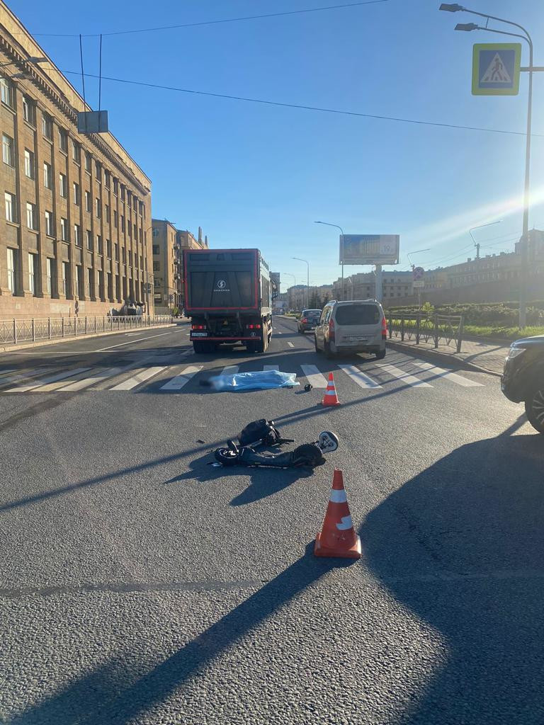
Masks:
[[[524,181],[524,192],[523,192],[523,230],[522,230],[522,280],[519,286],[519,327],[523,329],[527,325],[527,272],[529,266],[529,177],[531,168],[531,115],[532,115],[532,73],[534,70],[544,70],[544,67],[534,67],[532,65],[532,39],[529,36],[527,30],[519,25],[517,22],[511,20],[504,20],[503,17],[495,17],[495,15],[488,15],[485,12],[477,12],[476,10],[469,10],[466,7],[462,7],[457,3],[442,3],[440,10],[447,12],[469,12],[472,15],[478,15],[479,17],[485,17],[486,21],[497,20],[498,22],[504,22],[506,25],[513,25],[514,28],[519,28],[522,33],[508,33],[506,30],[496,30],[495,28],[482,27],[477,25],[475,22],[458,23],[456,30],[485,30],[487,33],[498,33],[501,36],[512,36],[514,38],[522,38],[527,42],[529,46],[529,66],[524,67],[521,70],[529,72],[529,88],[527,92],[527,133],[525,137],[525,181]]]

